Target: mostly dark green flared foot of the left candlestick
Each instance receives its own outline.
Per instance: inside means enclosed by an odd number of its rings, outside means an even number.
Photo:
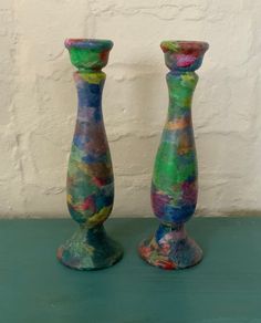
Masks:
[[[58,249],[58,259],[76,270],[96,270],[111,267],[123,257],[122,246],[111,239],[103,226],[80,229]]]

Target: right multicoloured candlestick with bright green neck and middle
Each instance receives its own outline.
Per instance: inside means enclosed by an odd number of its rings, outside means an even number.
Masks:
[[[169,107],[152,180],[152,206],[160,225],[142,242],[139,253],[163,269],[195,265],[202,259],[200,247],[188,237],[185,222],[197,204],[197,156],[191,121],[191,100],[198,82],[195,73],[208,44],[164,41],[160,44],[167,74]]]

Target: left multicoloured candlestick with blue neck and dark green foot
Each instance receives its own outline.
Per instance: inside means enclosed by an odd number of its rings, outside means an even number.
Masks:
[[[123,256],[103,222],[114,201],[114,177],[102,114],[102,91],[113,48],[109,40],[69,39],[65,41],[72,64],[79,107],[67,169],[67,207],[80,228],[58,250],[58,259],[79,270],[106,268]]]

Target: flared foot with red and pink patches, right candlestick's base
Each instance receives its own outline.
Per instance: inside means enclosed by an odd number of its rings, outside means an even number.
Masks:
[[[155,236],[139,246],[140,257],[161,269],[185,269],[201,261],[202,250],[187,236],[184,225],[160,225]]]

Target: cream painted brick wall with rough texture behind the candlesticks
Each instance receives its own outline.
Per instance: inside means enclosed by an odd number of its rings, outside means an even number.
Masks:
[[[149,216],[167,113],[159,43],[210,43],[194,98],[198,215],[261,212],[261,1],[1,0],[0,216],[67,217],[76,92],[65,38],[115,43],[104,70],[114,216]]]

